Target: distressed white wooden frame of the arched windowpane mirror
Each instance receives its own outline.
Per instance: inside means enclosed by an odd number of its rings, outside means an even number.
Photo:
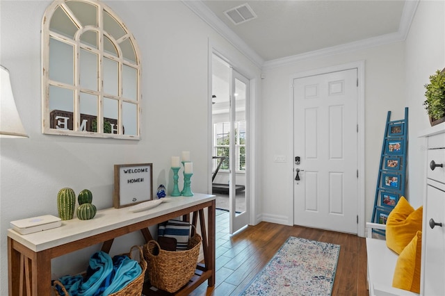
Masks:
[[[97,65],[97,73],[94,75],[97,76],[97,84],[98,84],[98,90],[92,91],[92,90],[83,90],[80,86],[80,51],[81,49],[90,49],[86,44],[81,43],[80,36],[81,33],[85,30],[86,26],[82,26],[80,22],[76,19],[74,13],[70,10],[70,8],[67,6],[68,2],[85,2],[89,3],[93,6],[97,7],[97,22],[98,26],[93,26],[93,28],[97,29],[97,31],[102,32],[102,36],[98,36],[98,49],[93,49],[90,52],[94,52],[98,55],[98,65]],[[53,17],[55,11],[57,8],[62,8],[67,15],[70,15],[70,18],[74,19],[73,23],[76,24],[78,27],[78,32],[74,35],[74,40],[72,38],[69,38],[63,34],[60,34],[56,31],[51,31],[50,24],[51,24],[51,18]],[[112,36],[112,34],[107,33],[104,30],[104,24],[103,24],[103,15],[104,12],[108,13],[108,15],[111,15],[115,19],[118,24],[122,27],[124,31],[124,35],[119,38],[118,40],[115,40]],[[88,25],[88,27],[92,27]],[[80,32],[79,32],[80,31]],[[104,96],[103,91],[103,60],[104,57],[109,58],[111,55],[108,54],[106,51],[104,51],[104,36],[106,36],[108,39],[111,38],[112,42],[115,44],[116,47],[119,48],[119,44],[121,42],[124,42],[126,40],[130,40],[131,44],[133,45],[134,50],[134,56],[135,56],[135,62],[129,61],[127,59],[124,59],[123,56],[112,56],[113,60],[117,61],[118,63],[118,95],[113,96],[113,99],[115,101],[118,101],[118,129],[117,133],[104,133],[104,99],[111,97],[110,95]],[[51,80],[49,78],[49,40],[51,38],[54,38],[58,41],[67,43],[67,44],[73,44],[73,77],[74,81],[72,85],[67,85],[65,83],[60,83],[58,81]],[[79,39],[79,40],[75,40]],[[121,52],[120,50],[118,51]],[[124,65],[127,65],[131,68],[136,69],[136,98],[129,99],[122,96],[124,93],[122,90],[122,71]],[[118,138],[118,139],[127,139],[127,140],[140,140],[140,117],[142,114],[140,102],[142,98],[141,94],[141,63],[140,63],[140,51],[138,48],[138,44],[136,42],[136,39],[134,38],[133,34],[128,30],[127,26],[122,22],[120,17],[116,15],[111,8],[106,6],[102,1],[97,0],[56,0],[53,3],[51,3],[47,10],[45,10],[43,19],[42,19],[42,133],[44,134],[50,134],[50,135],[74,135],[74,136],[81,136],[81,137],[94,137],[94,138]],[[49,88],[50,86],[55,86],[60,89],[65,90],[72,90],[74,93],[73,98],[73,110],[72,112],[72,130],[69,128],[67,129],[57,129],[50,127],[50,113],[51,110],[49,110]],[[81,98],[81,92],[87,93],[87,94],[94,94],[97,96],[97,132],[95,131],[81,131],[81,126],[84,126],[81,122],[81,114],[80,114],[80,98]],[[136,105],[136,135],[125,135],[124,134],[124,126],[122,125],[122,108],[124,103],[129,102],[131,104]],[[107,122],[109,124],[109,122]],[[67,124],[65,124],[67,126]]]

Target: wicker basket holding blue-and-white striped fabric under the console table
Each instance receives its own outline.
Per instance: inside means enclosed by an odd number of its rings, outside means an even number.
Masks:
[[[175,293],[195,274],[197,257],[200,254],[201,236],[195,234],[188,240],[184,251],[165,251],[156,240],[144,245],[150,284],[169,293]]]

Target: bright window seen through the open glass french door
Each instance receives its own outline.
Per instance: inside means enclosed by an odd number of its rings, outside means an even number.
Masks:
[[[235,157],[236,172],[245,172],[245,121],[235,122]],[[224,156],[220,170],[229,170],[230,122],[213,125],[213,149],[215,156]],[[213,170],[218,167],[219,159],[213,161]]]

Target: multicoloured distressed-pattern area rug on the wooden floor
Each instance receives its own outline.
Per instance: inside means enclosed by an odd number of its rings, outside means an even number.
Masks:
[[[289,237],[242,295],[331,295],[340,246]]]

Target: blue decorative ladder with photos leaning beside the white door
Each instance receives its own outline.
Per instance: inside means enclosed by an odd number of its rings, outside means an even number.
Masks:
[[[388,111],[371,218],[372,222],[379,224],[386,224],[398,199],[405,197],[408,108],[405,108],[403,120],[391,121],[390,117],[391,111]],[[379,229],[374,229],[373,232],[385,235],[385,231]]]

